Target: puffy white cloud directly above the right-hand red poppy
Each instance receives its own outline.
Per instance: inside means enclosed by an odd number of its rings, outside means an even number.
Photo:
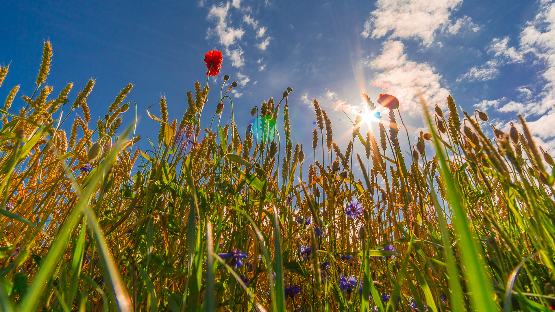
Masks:
[[[428,63],[409,61],[404,53],[404,44],[400,41],[386,41],[382,54],[370,63],[378,72],[371,84],[395,95],[402,110],[411,115],[420,113],[421,92],[428,105],[445,105],[449,90],[441,86],[441,75]]]

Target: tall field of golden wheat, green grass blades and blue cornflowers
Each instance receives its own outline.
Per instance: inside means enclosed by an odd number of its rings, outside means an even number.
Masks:
[[[405,158],[398,110],[380,117],[376,134],[360,133],[356,118],[338,144],[315,100],[310,159],[291,140],[290,88],[253,108],[244,135],[233,119],[220,125],[237,85],[226,76],[216,107],[205,107],[208,79],[197,82],[179,122],[165,98],[161,118],[149,107],[158,140],[139,150],[135,125],[120,130],[133,85],[91,124],[94,80],[66,105],[72,83],[57,97],[41,89],[51,58],[45,43],[35,92],[14,114],[14,87],[0,110],[3,311],[555,306],[553,159],[522,117],[522,133],[494,128],[490,138],[485,113],[460,115],[452,97],[448,117],[423,104],[429,132]],[[7,73],[0,68],[0,85]]]

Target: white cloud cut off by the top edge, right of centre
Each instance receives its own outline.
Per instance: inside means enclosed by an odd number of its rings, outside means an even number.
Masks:
[[[377,9],[370,13],[364,24],[362,36],[420,38],[429,46],[436,33],[455,34],[463,27],[478,31],[480,28],[470,17],[459,18],[454,24],[451,22],[451,12],[461,3],[462,0],[378,0]]]

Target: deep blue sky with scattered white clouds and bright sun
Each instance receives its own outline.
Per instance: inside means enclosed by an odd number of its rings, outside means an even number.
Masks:
[[[186,91],[205,81],[204,53],[218,49],[224,64],[210,85],[219,88],[224,74],[239,83],[231,97],[241,133],[254,105],[291,87],[294,142],[310,145],[316,98],[344,149],[352,125],[342,110],[354,118],[362,92],[374,100],[396,95],[415,135],[423,127],[420,90],[431,105],[445,107],[451,94],[462,109],[485,110],[501,129],[522,113],[537,143],[555,151],[553,1],[7,1],[3,8],[0,63],[11,65],[0,98],[17,84],[20,96],[33,92],[49,39],[54,93],[74,82],[73,101],[96,79],[87,102],[100,117],[133,83],[128,100],[139,105],[143,138],[157,137],[159,127],[145,109],[164,95],[170,118],[180,120]],[[211,117],[218,100],[210,97],[203,115]],[[126,114],[130,122],[134,113]],[[230,115],[226,105],[223,120]]]

